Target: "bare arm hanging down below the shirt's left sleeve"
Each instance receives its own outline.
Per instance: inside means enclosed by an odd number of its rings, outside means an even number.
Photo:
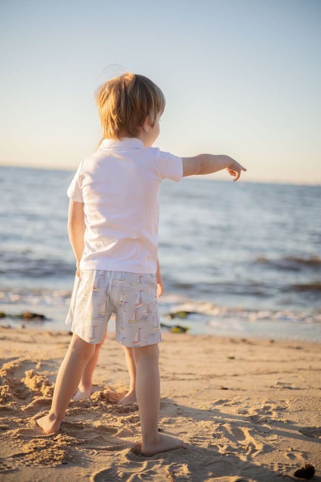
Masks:
[[[85,215],[84,215],[84,203],[77,202],[70,199],[69,212],[68,212],[68,234],[70,244],[73,249],[76,258],[77,271],[76,274],[79,277],[79,264],[85,248],[84,234],[85,234]]]

